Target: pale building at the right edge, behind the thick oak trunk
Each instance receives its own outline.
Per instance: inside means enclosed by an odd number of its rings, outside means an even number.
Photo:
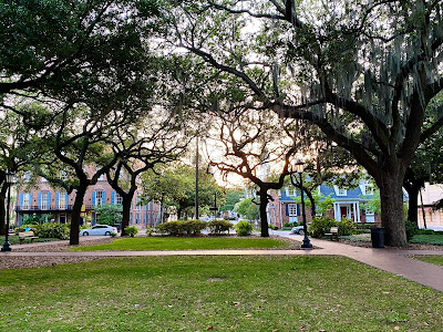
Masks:
[[[435,209],[435,204],[441,199],[443,199],[443,185],[431,185],[430,183],[425,183],[422,195],[419,195],[418,212],[420,228],[443,230],[443,211]]]

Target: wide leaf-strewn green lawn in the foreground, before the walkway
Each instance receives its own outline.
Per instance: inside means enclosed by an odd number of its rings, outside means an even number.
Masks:
[[[2,331],[441,331],[442,293],[347,258],[133,257],[2,270]]]

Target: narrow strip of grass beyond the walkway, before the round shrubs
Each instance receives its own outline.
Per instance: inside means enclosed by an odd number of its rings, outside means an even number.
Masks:
[[[267,249],[288,246],[288,241],[260,238],[121,238],[111,243],[73,248],[91,250],[187,250],[187,249]]]

